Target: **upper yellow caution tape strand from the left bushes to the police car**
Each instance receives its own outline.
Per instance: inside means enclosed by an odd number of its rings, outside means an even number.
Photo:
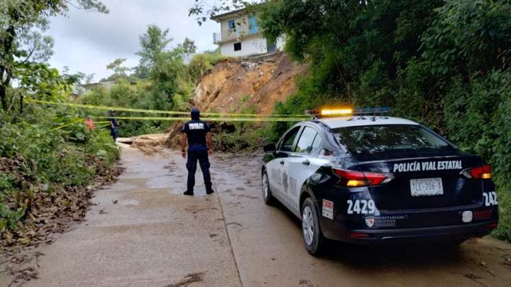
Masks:
[[[86,108],[91,110],[115,110],[120,112],[141,112],[141,113],[149,113],[149,114],[182,114],[189,116],[189,112],[178,112],[178,111],[163,111],[163,110],[141,110],[141,109],[132,109],[132,108],[121,108],[121,107],[107,107],[104,105],[84,105],[80,103],[61,103],[55,101],[42,101],[36,99],[25,99],[27,102],[32,103],[44,103],[47,105],[64,105],[67,107],[73,108]],[[294,117],[300,118],[300,121],[304,118],[310,118],[310,116],[305,116],[303,114],[230,114],[230,113],[215,113],[215,112],[201,112],[204,116],[256,116],[256,117],[278,117],[278,118],[287,118]],[[162,120],[163,121],[163,120]],[[212,121],[212,120],[210,120]]]

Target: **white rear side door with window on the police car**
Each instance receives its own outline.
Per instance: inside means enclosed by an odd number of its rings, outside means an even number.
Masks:
[[[300,214],[300,191],[303,184],[313,173],[320,169],[326,160],[318,159],[318,151],[321,146],[321,136],[313,127],[305,126],[302,129],[300,138],[294,147],[294,152],[289,155],[285,162],[287,174],[287,191],[289,205],[292,211]]]

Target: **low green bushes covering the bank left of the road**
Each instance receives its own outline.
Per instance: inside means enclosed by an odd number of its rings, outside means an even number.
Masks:
[[[119,159],[106,130],[88,132],[82,117],[68,112],[0,112],[0,232],[19,227],[36,194],[86,186]],[[78,122],[52,130],[71,121]]]

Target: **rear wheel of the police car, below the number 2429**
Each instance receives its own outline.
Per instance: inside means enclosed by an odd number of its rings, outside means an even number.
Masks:
[[[305,249],[313,256],[321,255],[325,245],[325,238],[320,228],[318,209],[310,197],[303,202],[301,219]]]

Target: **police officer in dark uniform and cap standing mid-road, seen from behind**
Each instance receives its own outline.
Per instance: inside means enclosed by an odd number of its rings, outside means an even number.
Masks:
[[[211,187],[211,175],[209,174],[209,158],[208,153],[213,153],[213,138],[211,138],[211,129],[209,125],[203,121],[200,121],[200,112],[197,109],[191,110],[191,121],[188,121],[182,125],[181,132],[181,152],[182,157],[186,158],[186,147],[188,142],[188,182],[187,191],[184,195],[193,195],[193,186],[195,186],[195,171],[197,170],[197,160],[202,170],[202,176],[204,177],[204,186],[206,186],[206,193],[210,195],[213,193]],[[206,147],[206,138],[207,144]]]

